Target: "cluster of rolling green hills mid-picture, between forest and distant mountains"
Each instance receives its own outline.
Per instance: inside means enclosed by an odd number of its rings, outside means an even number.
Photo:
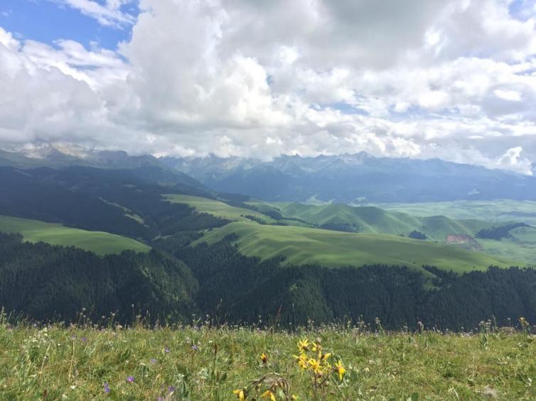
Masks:
[[[195,207],[198,212],[215,214],[233,221],[218,229],[205,233],[195,243],[216,243],[230,234],[238,236],[237,244],[245,256],[272,258],[284,256],[290,265],[321,264],[332,267],[347,265],[365,265],[384,263],[387,265],[407,265],[421,269],[422,265],[435,265],[439,268],[452,269],[462,273],[477,269],[486,269],[490,265],[506,267],[511,258],[495,258],[466,249],[449,246],[446,243],[419,241],[404,238],[399,234],[407,233],[422,224],[429,226],[429,231],[444,234],[456,233],[469,228],[459,221],[443,216],[438,218],[414,218],[402,213],[385,212],[375,207],[348,207],[345,205],[328,205],[312,207],[303,204],[264,204],[250,202],[246,206],[255,207],[252,211],[244,207],[233,207],[215,199],[191,197],[185,195],[166,195],[173,202],[184,202]],[[274,225],[274,219],[262,214],[280,212],[281,221],[296,225]],[[252,221],[244,216],[254,214],[264,224]],[[301,221],[313,224],[326,224],[328,221],[353,221],[363,224],[366,231],[350,233],[336,230],[304,227]],[[473,226],[488,226],[484,222],[471,222]],[[474,227],[473,227],[474,229]],[[446,235],[445,234],[445,237]],[[471,233],[472,234],[472,233]],[[444,238],[445,238],[444,237]],[[443,238],[443,239],[444,239]],[[424,270],[423,270],[424,271]],[[427,272],[425,272],[426,274]]]

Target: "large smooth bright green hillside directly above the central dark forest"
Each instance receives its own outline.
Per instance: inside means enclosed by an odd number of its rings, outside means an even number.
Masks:
[[[354,234],[297,226],[262,226],[236,221],[208,232],[197,242],[215,243],[228,234],[238,234],[237,244],[246,256],[286,256],[293,265],[318,263],[327,266],[385,263],[420,269],[423,264],[462,273],[490,265],[511,263],[481,253],[430,241],[400,236]]]

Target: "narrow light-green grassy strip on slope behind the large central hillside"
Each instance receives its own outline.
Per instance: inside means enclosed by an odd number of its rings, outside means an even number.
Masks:
[[[266,223],[275,222],[275,220],[271,217],[252,209],[230,206],[215,199],[182,194],[166,194],[164,195],[164,199],[173,203],[189,204],[191,207],[195,208],[197,212],[213,214],[213,216],[222,217],[223,219],[228,219],[231,221],[250,221],[244,216],[254,216]]]

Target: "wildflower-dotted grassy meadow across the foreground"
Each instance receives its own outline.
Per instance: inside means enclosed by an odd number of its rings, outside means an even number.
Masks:
[[[271,400],[273,395],[273,401],[285,399],[286,387],[299,400],[536,397],[536,342],[530,334],[362,329],[331,326],[289,334],[237,327],[65,329],[4,322],[0,399],[233,400],[245,389],[246,400]],[[316,398],[309,368],[299,368],[293,357],[304,338],[321,344],[321,353],[331,353],[326,360],[332,370],[323,368],[320,376],[329,384],[316,389]],[[311,354],[314,358],[316,352]],[[343,375],[335,363],[344,367]],[[263,376],[259,391],[247,392],[250,380]],[[274,380],[279,380],[279,390],[273,388]],[[270,386],[272,393],[267,392]]]

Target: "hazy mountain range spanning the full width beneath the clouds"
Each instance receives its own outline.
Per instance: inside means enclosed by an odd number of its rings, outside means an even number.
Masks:
[[[127,169],[160,184],[183,184],[278,202],[367,204],[451,200],[535,199],[536,177],[439,159],[353,155],[281,155],[251,158],[155,158],[124,151],[56,148],[27,155],[0,150],[0,165],[70,165]]]

